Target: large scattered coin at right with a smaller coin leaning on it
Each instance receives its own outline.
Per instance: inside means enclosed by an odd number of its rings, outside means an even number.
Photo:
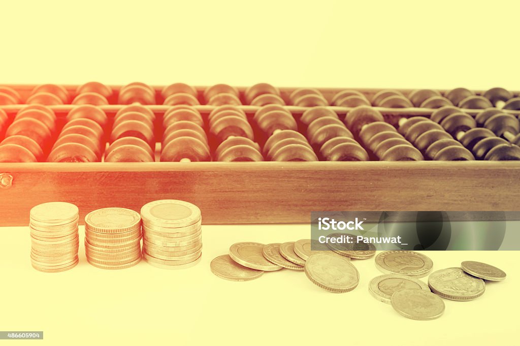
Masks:
[[[460,268],[437,270],[428,277],[428,286],[436,295],[451,300],[472,300],[486,290],[484,280]]]

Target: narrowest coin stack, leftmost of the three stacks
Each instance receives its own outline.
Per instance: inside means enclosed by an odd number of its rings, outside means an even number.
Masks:
[[[70,203],[51,202],[30,212],[31,264],[41,272],[72,269],[79,261],[78,208]]]

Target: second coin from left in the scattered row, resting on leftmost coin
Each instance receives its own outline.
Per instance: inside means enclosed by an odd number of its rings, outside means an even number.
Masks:
[[[282,269],[280,265],[269,262],[264,257],[262,254],[264,246],[264,244],[252,242],[235,243],[229,248],[229,256],[238,264],[251,269],[263,271],[275,271]]]

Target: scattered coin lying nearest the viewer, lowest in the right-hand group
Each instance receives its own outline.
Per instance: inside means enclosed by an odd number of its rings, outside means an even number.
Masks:
[[[434,320],[444,313],[444,302],[430,291],[405,288],[392,295],[392,307],[412,320]]]

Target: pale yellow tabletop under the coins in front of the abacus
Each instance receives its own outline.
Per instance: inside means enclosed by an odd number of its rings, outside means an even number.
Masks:
[[[443,299],[446,311],[437,320],[413,321],[370,295],[370,280],[382,275],[373,258],[352,261],[360,282],[344,294],[288,269],[249,282],[226,281],[210,270],[211,260],[233,243],[308,238],[307,224],[203,225],[202,260],[184,270],[145,261],[123,270],[95,268],[86,261],[80,227],[77,267],[41,273],[31,267],[27,227],[0,228],[0,235],[0,330],[43,330],[43,344],[438,345],[511,344],[516,338],[517,251],[424,251],[434,271],[475,260],[496,265],[508,277],[486,282],[485,294],[473,301]]]

